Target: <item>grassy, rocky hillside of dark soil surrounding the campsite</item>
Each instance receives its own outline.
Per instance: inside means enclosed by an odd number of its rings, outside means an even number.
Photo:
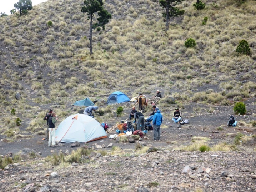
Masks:
[[[0,17],[0,168],[20,163],[0,170],[0,188],[21,191],[31,181],[30,190],[37,191],[255,191],[256,1],[203,2],[205,9],[196,10],[195,1],[182,1],[177,7],[184,15],[172,18],[165,31],[158,0],[105,0],[112,19],[104,31],[93,30],[92,56],[83,0],[48,0],[27,15]],[[184,45],[189,38],[195,39],[194,48]],[[236,52],[243,39],[250,55]],[[89,97],[104,112],[95,119],[111,127],[128,117],[131,106],[137,108],[133,102],[106,105],[112,92],[150,98],[156,90],[163,96],[157,103],[166,132],[161,141],[152,141],[152,131],[140,145],[115,143],[111,150],[97,150],[100,141],[94,141],[86,146],[91,154],[79,155],[80,148],[60,162],[56,154],[70,150],[70,144],[49,149],[42,140],[42,119],[50,108],[60,123],[83,109],[72,106],[75,101]],[[234,113],[238,101],[245,103],[245,115]],[[121,115],[116,114],[119,106]],[[176,106],[189,124],[172,123]],[[236,127],[226,126],[230,115],[239,121]],[[25,147],[35,151],[32,160],[21,161]],[[134,151],[137,147],[141,151]],[[150,147],[155,151],[145,153]],[[201,147],[209,152],[199,152]],[[8,152],[17,153],[13,162],[4,158]],[[76,155],[78,167],[71,166]],[[129,163],[122,170],[124,161]],[[188,175],[182,172],[187,165],[194,168]],[[70,167],[75,171],[70,173]],[[229,176],[220,177],[225,170]],[[53,171],[59,175],[48,179]],[[152,182],[143,179],[149,176]]]

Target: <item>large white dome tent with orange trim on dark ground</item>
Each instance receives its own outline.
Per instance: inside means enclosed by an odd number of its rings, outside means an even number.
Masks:
[[[94,118],[84,114],[71,115],[56,129],[55,140],[64,143],[87,143],[107,138],[107,133]]]

